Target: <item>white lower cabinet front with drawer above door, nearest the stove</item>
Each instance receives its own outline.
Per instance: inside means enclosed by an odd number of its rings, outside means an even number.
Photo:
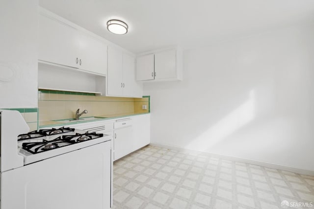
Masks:
[[[122,118],[114,122],[114,160],[124,157],[132,152],[132,119]]]

